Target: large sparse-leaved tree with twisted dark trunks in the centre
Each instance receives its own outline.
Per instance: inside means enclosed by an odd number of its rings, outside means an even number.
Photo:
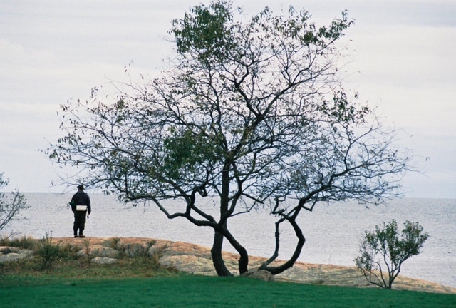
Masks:
[[[296,222],[303,210],[395,195],[408,168],[393,132],[341,87],[337,45],[352,21],[346,12],[328,26],[309,19],[293,8],[249,18],[222,0],[193,7],[173,21],[176,54],[160,77],[121,83],[112,99],[95,91],[62,106],[66,135],[50,157],[85,168],[86,185],[212,228],[219,275],[231,274],[225,239],[239,252],[239,272],[249,264],[228,220],[251,214],[254,223],[252,210],[269,209],[276,250],[261,268],[283,272],[305,242]],[[204,211],[204,198],[216,200],[217,215]],[[282,223],[296,247],[276,265]]]

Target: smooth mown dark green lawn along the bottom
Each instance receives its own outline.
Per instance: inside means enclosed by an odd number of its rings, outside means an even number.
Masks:
[[[2,307],[456,307],[455,294],[262,282],[244,277],[0,276]]]

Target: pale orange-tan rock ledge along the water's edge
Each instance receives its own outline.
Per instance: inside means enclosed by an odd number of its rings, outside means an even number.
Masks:
[[[203,245],[192,244],[189,242],[175,242],[170,240],[154,239],[149,237],[58,237],[54,238],[56,242],[69,242],[71,244],[83,244],[83,240],[90,241],[91,250],[100,250],[103,248],[103,242],[118,238],[119,244],[140,244],[146,245],[151,240],[155,241],[152,246],[162,249],[162,257],[160,264],[163,266],[175,267],[181,272],[193,274],[204,274],[217,276],[212,265],[210,255],[210,247]],[[223,252],[225,265],[228,270],[235,275],[237,272],[238,255],[233,252]],[[249,256],[249,270],[254,270],[259,267],[265,257]],[[275,263],[280,263],[277,260]],[[294,267],[281,274],[274,276],[276,281],[306,283],[306,284],[321,284],[321,285],[337,285],[346,287],[375,287],[367,282],[361,272],[356,267],[348,267],[341,265],[321,265],[306,262],[296,262]],[[393,283],[393,289],[408,289],[419,292],[438,292],[446,294],[456,294],[456,288],[438,284],[437,282],[429,282],[424,279],[414,279],[399,275]]]

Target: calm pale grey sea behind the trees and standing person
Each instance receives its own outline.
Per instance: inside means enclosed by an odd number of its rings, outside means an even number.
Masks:
[[[4,234],[16,232],[41,238],[52,231],[53,237],[73,235],[73,213],[67,207],[72,194],[25,195],[31,208],[21,212],[25,219],[11,222],[2,230]],[[153,237],[212,246],[213,232],[207,227],[196,227],[182,218],[168,220],[155,207],[131,207],[112,196],[93,194],[90,198],[93,212],[84,232],[88,236]],[[216,215],[212,202],[204,206]],[[400,227],[405,220],[410,220],[423,225],[430,237],[420,255],[404,262],[401,274],[456,287],[455,199],[405,198],[369,208],[356,202],[336,202],[317,205],[314,212],[303,214],[300,226],[306,244],[299,257],[303,262],[353,266],[363,230],[372,230],[375,225],[393,218]],[[269,257],[274,252],[274,217],[266,212],[234,217],[229,227],[249,255]],[[293,252],[295,238],[292,235],[290,229],[281,230],[279,258],[285,259]],[[227,242],[224,250],[235,252]]]

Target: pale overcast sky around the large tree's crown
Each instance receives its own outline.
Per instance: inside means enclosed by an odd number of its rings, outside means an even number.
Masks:
[[[170,56],[171,21],[201,0],[0,0],[0,172],[7,190],[60,192],[61,174],[39,152],[61,135],[56,112],[68,98],[125,78],[148,76]],[[401,130],[422,173],[403,179],[407,197],[456,198],[456,1],[233,1],[248,13],[281,5],[316,24],[347,9],[345,88]],[[133,75],[133,77],[136,75]]]

